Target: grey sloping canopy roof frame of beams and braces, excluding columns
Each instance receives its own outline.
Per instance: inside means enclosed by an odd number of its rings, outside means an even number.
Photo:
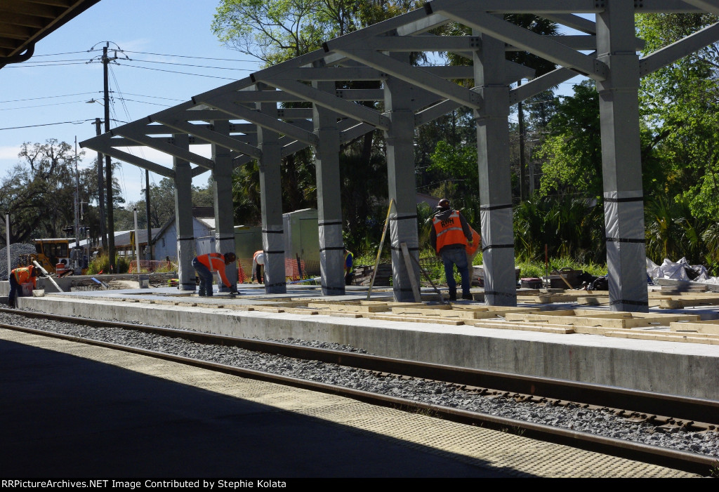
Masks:
[[[719,14],[719,0],[646,0],[635,2],[636,13]],[[111,157],[174,177],[166,167],[134,155],[133,147],[150,147],[173,159],[195,164],[192,176],[214,168],[214,161],[191,152],[191,144],[214,144],[229,149],[234,165],[262,156],[258,134],[269,131],[280,138],[283,157],[319,144],[315,111],[336,116],[340,142],[352,141],[376,129],[390,131],[385,111],[385,82],[396,78],[413,91],[415,126],[438,119],[465,106],[480,111],[482,83],[475,68],[467,66],[418,66],[411,52],[454,52],[469,60],[482,53],[482,37],[504,43],[505,50],[526,51],[553,62],[556,69],[535,77],[534,70],[506,61],[503,82],[511,85],[510,104],[523,101],[559,83],[585,75],[597,82],[607,78],[608,65],[597,56],[597,26],[580,14],[601,14],[605,2],[593,0],[434,0],[421,9],[345,34],[324,43],[323,48],[273,65],[247,78],[223,85],[191,100],[118,126],[81,142]],[[536,34],[503,20],[502,14],[534,14],[574,29],[577,35]],[[439,36],[437,27],[457,22],[472,28],[472,35]],[[685,37],[640,59],[646,75],[719,40],[719,24]],[[635,40],[636,50],[644,47]],[[377,80],[376,88],[354,88],[357,80]],[[469,82],[469,83],[467,83]],[[367,101],[380,102],[368,105]],[[296,104],[304,103],[304,104]],[[311,104],[308,104],[311,103]],[[487,103],[491,103],[487,101]],[[176,145],[182,135],[183,144]],[[188,142],[188,144],[186,144]],[[177,162],[177,161],[175,161]]]

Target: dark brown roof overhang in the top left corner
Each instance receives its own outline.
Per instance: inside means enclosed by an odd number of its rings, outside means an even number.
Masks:
[[[0,1],[0,68],[29,60],[37,42],[99,1]]]

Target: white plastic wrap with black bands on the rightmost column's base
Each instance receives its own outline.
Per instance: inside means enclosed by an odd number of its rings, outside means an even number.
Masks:
[[[644,194],[605,192],[604,214],[610,305],[617,310],[648,309]]]

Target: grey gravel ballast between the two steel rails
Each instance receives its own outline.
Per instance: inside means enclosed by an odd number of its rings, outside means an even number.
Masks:
[[[586,409],[574,407],[571,404],[567,407],[542,405],[516,402],[514,399],[505,397],[478,396],[462,391],[451,384],[398,379],[394,376],[375,376],[356,368],[256,353],[242,348],[206,345],[180,338],[143,333],[138,330],[88,327],[68,322],[28,319],[22,315],[9,313],[0,313],[0,322],[719,458],[719,432],[686,432],[684,430],[664,432],[654,425],[632,422],[631,419],[624,419],[601,409]],[[335,343],[306,340],[271,341],[365,353],[360,348]]]

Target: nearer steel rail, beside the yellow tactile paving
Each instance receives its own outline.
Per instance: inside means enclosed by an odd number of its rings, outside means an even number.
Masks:
[[[106,323],[104,323],[106,324]],[[118,323],[122,324],[122,323]],[[76,343],[85,343],[87,345],[95,345],[113,350],[126,351],[136,353],[143,356],[160,358],[165,361],[173,361],[183,363],[199,368],[206,368],[212,371],[232,374],[234,376],[244,377],[266,381],[275,384],[283,384],[293,386],[300,389],[310,391],[319,391],[326,394],[335,394],[345,396],[358,401],[369,404],[380,405],[384,407],[392,407],[407,412],[422,412],[430,414],[432,417],[446,419],[452,422],[469,424],[475,426],[483,426],[490,429],[501,430],[503,432],[514,432],[517,435],[528,437],[544,442],[553,442],[558,445],[567,445],[591,452],[600,452],[606,455],[628,458],[631,460],[641,461],[642,463],[651,463],[661,465],[674,470],[683,470],[697,475],[710,476],[719,465],[719,460],[705,455],[699,455],[691,452],[672,450],[663,447],[644,445],[637,442],[619,440],[612,437],[603,437],[588,434],[586,432],[577,432],[559,427],[551,427],[544,424],[535,424],[524,422],[517,419],[508,419],[505,417],[495,417],[490,414],[480,412],[470,412],[467,410],[453,409],[449,407],[441,407],[435,404],[426,404],[416,402],[414,400],[402,399],[396,396],[387,396],[383,394],[372,393],[370,391],[362,391],[358,389],[346,388],[344,386],[334,386],[332,384],[319,383],[306,379],[299,379],[291,376],[281,376],[275,373],[267,373],[264,371],[256,371],[253,369],[239,368],[228,366],[226,364],[203,361],[186,356],[175,356],[170,353],[159,351],[151,351],[144,348],[132,347],[129,345],[121,345],[116,343],[102,342],[91,338],[76,337],[73,335],[64,335],[47,330],[38,330],[36,328],[27,328],[17,325],[0,324],[0,328],[21,331],[24,333],[32,333],[35,335],[47,336],[68,340]],[[193,333],[193,332],[188,332]]]

